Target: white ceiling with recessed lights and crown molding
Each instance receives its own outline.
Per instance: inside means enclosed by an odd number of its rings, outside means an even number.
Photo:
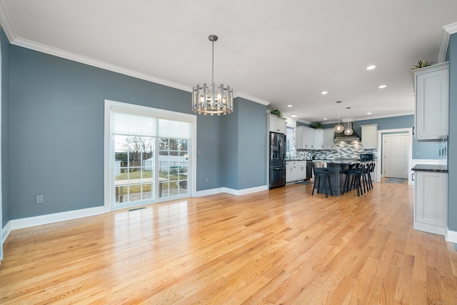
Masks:
[[[12,44],[187,91],[211,82],[216,34],[214,81],[324,122],[413,114],[408,71],[440,61],[457,1],[0,0],[0,19]]]

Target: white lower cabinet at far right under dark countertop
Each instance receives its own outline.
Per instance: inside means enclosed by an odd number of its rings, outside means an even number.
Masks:
[[[448,173],[415,171],[414,224],[416,230],[446,235]]]

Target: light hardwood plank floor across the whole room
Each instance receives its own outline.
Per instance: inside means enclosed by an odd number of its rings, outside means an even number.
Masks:
[[[413,186],[291,184],[12,231],[0,304],[457,304],[457,252]]]

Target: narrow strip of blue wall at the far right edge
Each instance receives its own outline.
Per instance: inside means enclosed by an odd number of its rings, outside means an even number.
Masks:
[[[457,231],[457,34],[449,40],[448,228]],[[452,157],[453,156],[453,157]]]

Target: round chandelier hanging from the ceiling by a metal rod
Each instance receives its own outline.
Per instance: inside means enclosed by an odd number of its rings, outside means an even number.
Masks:
[[[212,78],[211,85],[197,84],[192,88],[192,110],[198,114],[231,114],[233,112],[233,89],[224,84],[214,83],[214,41],[216,35],[209,35],[209,41],[213,44]]]

